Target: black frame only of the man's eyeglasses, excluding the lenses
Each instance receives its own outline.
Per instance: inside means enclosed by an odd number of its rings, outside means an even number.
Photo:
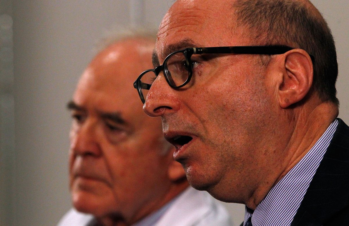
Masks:
[[[143,71],[136,81],[133,83],[133,87],[137,89],[138,95],[141,98],[142,103],[144,104],[146,102],[142,89],[149,90],[152,84],[147,84],[141,82],[141,78],[143,75],[147,74],[148,72],[152,71],[155,74],[155,77],[157,77],[160,72],[162,71],[166,82],[170,85],[173,89],[178,89],[186,84],[188,84],[192,78],[193,70],[192,67],[189,67],[189,65],[192,65],[191,57],[194,54],[258,54],[258,55],[277,55],[277,54],[283,54],[290,50],[294,50],[295,48],[285,46],[285,45],[268,45],[268,46],[220,46],[220,47],[191,47],[191,48],[184,48],[182,50],[175,51],[173,53],[170,53],[162,63],[162,65],[154,68],[154,69],[148,69]],[[188,78],[187,80],[181,84],[181,85],[173,85],[171,84],[172,78],[168,74],[168,68],[167,68],[167,61],[172,57],[172,55],[176,53],[183,53],[184,57],[186,59],[186,63],[188,65]],[[312,62],[315,62],[315,58],[313,55],[309,54]]]

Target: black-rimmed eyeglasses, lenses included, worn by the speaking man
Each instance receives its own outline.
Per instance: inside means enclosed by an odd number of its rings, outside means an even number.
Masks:
[[[163,71],[167,83],[172,88],[180,88],[190,82],[193,75],[193,67],[195,61],[191,57],[194,54],[209,54],[209,53],[234,53],[234,54],[261,54],[275,55],[283,54],[294,48],[289,46],[222,46],[222,47],[193,47],[185,48],[168,55],[163,64],[155,69],[143,71],[137,80],[133,83],[135,89],[138,90],[139,97],[143,104],[146,102],[144,97],[147,97],[148,90],[153,84],[155,78]],[[314,57],[310,55],[314,62]]]

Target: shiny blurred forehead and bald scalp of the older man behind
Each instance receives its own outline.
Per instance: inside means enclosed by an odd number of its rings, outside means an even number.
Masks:
[[[82,74],[73,100],[93,111],[121,112],[143,117],[142,103],[133,82],[150,67],[153,42],[127,41],[107,47]]]

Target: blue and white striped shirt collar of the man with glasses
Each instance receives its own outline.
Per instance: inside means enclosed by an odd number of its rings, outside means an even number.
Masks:
[[[269,191],[255,211],[246,207],[244,226],[251,215],[253,226],[291,225],[337,125],[336,119],[310,151]]]

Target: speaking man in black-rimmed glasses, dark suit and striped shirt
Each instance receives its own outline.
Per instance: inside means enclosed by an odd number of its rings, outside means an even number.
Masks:
[[[347,225],[349,128],[336,51],[310,1],[178,0],[134,82],[190,184],[243,225]]]

